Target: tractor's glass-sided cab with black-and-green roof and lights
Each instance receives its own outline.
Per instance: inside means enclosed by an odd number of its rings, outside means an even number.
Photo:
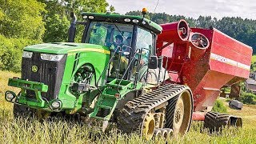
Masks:
[[[108,78],[142,81],[149,59],[156,56],[156,36],[162,27],[144,16],[82,13],[82,18],[85,21],[80,22],[85,25],[82,43],[110,49]],[[69,42],[74,42],[72,34]]]

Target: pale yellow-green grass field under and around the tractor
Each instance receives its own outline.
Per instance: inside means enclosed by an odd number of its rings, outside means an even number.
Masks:
[[[86,122],[64,121],[61,118],[38,122],[37,119],[14,119],[12,104],[5,102],[3,94],[10,89],[7,79],[19,74],[0,71],[0,143],[165,143],[163,139],[146,142],[138,134],[120,134],[110,130],[103,134]],[[12,89],[14,90],[14,89]],[[18,92],[18,90],[15,90]],[[225,99],[222,99],[225,102]],[[242,110],[231,110],[230,114],[243,118],[241,129],[225,129],[222,133],[209,134],[202,129],[202,122],[193,122],[189,133],[178,138],[168,138],[168,143],[256,143],[256,106],[244,106]]]

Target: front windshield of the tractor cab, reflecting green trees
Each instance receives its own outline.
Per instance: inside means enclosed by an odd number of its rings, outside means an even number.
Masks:
[[[121,44],[131,46],[133,27],[120,23],[90,22],[86,39],[88,43],[109,46],[113,49]]]

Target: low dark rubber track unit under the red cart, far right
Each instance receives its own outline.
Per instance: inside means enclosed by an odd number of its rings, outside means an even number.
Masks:
[[[208,128],[210,132],[222,130],[223,126],[242,127],[242,118],[230,115],[219,114],[216,112],[208,112],[204,121],[204,128]]]

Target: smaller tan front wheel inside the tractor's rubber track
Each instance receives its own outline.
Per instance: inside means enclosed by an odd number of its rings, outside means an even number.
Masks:
[[[154,135],[154,114],[148,113],[144,118],[143,126],[142,126],[142,136],[146,138],[146,140],[150,140]]]

